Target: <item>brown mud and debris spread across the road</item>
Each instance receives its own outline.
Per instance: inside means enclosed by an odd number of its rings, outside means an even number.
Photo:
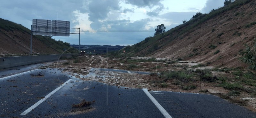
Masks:
[[[135,61],[134,61],[135,60]],[[126,59],[126,58],[104,58],[102,56],[79,56],[73,59],[66,59],[57,62],[48,63],[47,67],[61,68],[63,71],[72,72],[74,76],[86,81],[97,81],[106,83],[109,85],[124,86],[131,88],[148,88],[149,90],[157,91],[174,91],[174,92],[189,92],[200,94],[213,94],[219,97],[227,95],[231,90],[220,87],[221,81],[216,82],[201,81],[200,78],[194,78],[192,81],[180,81],[177,79],[163,80],[161,75],[141,75],[141,74],[129,74],[121,72],[111,71],[99,71],[89,74],[92,68],[111,68],[128,71],[141,71],[150,73],[161,73],[166,71],[182,71],[186,69],[204,69],[213,67],[192,67],[198,63],[191,62],[176,62],[173,63],[169,60],[157,60],[157,61],[140,61],[138,59]],[[132,66],[131,66],[132,65]],[[236,76],[230,72],[212,71],[214,76],[225,76],[228,83],[235,83]],[[184,89],[187,86],[193,85],[195,89]],[[249,87],[250,88],[250,87]],[[83,90],[86,90],[83,89]],[[225,97],[224,97],[225,98]],[[252,96],[252,93],[241,91],[241,94],[237,97],[225,98],[230,102],[238,105],[245,106],[246,108],[256,112],[256,98]],[[87,110],[78,110],[70,112],[70,114],[86,113],[93,110],[93,108]]]

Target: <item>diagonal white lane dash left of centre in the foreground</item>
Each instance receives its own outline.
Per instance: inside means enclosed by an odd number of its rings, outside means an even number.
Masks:
[[[58,88],[56,88],[55,90],[53,90],[52,92],[50,92],[48,95],[46,95],[43,99],[40,99],[36,104],[34,104],[33,106],[30,106],[26,111],[24,111],[23,113],[21,113],[20,115],[26,115],[28,114],[30,111],[32,111],[34,108],[36,108],[36,106],[40,105],[42,102],[44,102],[44,100],[46,100],[47,98],[49,98],[52,94],[54,94],[56,91],[60,90],[61,87],[63,87],[64,85],[66,85],[68,82],[70,82],[72,79],[69,79],[68,81],[66,81],[65,83],[61,84]]]

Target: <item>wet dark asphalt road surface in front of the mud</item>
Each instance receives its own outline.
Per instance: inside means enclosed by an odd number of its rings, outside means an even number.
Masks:
[[[40,66],[0,70],[1,118],[256,117],[254,112],[213,95],[127,89],[82,81],[55,68],[38,69]],[[83,99],[95,102],[72,107]]]

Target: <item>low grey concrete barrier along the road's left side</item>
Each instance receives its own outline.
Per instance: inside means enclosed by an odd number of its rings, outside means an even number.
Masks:
[[[42,63],[47,61],[54,61],[58,60],[60,58],[60,55],[61,54],[0,57],[0,69]],[[78,53],[62,54],[61,58],[68,58],[76,55],[78,55]]]

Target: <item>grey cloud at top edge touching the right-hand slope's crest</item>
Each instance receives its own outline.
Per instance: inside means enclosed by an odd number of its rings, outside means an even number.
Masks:
[[[224,0],[207,0],[204,8],[201,10],[202,13],[209,13],[212,9],[218,9],[224,6]]]

